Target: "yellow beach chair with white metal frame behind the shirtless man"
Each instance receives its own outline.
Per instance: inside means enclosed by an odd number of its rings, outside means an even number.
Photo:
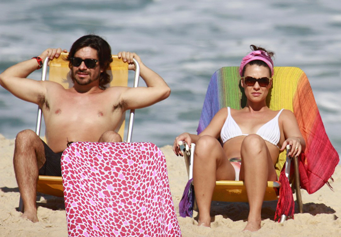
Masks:
[[[45,60],[42,73],[41,73],[41,80],[47,79],[54,81],[61,84],[65,89],[71,88],[73,86],[72,79],[70,77],[70,68],[69,62],[65,59],[67,58],[67,53],[62,53],[58,58],[55,58],[51,61],[48,59]],[[138,62],[134,60],[134,64],[136,67],[135,75],[134,75],[134,82],[133,87],[138,86],[139,81],[139,74],[140,68]],[[47,70],[49,63],[49,70]],[[47,71],[49,71],[47,73]],[[117,55],[113,55],[113,62],[110,64],[109,68],[107,69],[109,75],[111,75],[111,82],[110,86],[127,86],[128,85],[128,63],[122,61],[122,59],[118,59]],[[41,127],[41,119],[42,119],[42,112],[41,109],[38,108],[37,114],[37,124],[36,124],[36,133],[40,135],[40,127]],[[133,134],[133,120],[134,120],[134,110],[130,110],[130,118],[128,124],[128,132],[126,141],[131,142],[132,134]],[[117,127],[116,132],[120,134],[122,139],[124,138],[124,128],[125,128],[125,114],[122,115],[120,125]],[[44,176],[39,175],[38,182],[37,182],[37,192],[63,197],[63,185],[62,185],[62,178],[58,176]],[[20,197],[19,201],[19,211],[23,211],[23,205]]]

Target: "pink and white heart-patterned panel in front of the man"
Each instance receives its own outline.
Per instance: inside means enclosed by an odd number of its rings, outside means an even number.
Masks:
[[[76,142],[61,171],[69,237],[181,237],[154,144]]]

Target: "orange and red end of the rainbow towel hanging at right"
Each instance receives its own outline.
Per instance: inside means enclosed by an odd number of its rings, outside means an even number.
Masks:
[[[298,82],[293,105],[294,114],[306,143],[304,154],[299,157],[301,188],[312,194],[328,182],[339,163],[339,154],[324,130],[305,73],[302,73]]]

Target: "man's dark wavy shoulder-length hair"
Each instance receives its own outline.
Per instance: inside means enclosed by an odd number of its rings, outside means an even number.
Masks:
[[[80,37],[71,46],[69,56],[67,58],[70,69],[72,68],[70,58],[75,56],[76,52],[84,47],[90,47],[97,51],[99,66],[101,69],[104,69],[103,73],[99,76],[99,88],[105,90],[105,85],[110,82],[110,75],[106,72],[106,69],[113,61],[111,47],[108,42],[100,36],[87,35]],[[74,78],[72,79],[74,80]]]

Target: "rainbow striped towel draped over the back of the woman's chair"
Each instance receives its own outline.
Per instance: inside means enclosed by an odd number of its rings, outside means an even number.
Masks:
[[[241,109],[246,105],[238,69],[239,67],[224,67],[212,75],[199,120],[198,134],[208,126],[219,109],[227,106]],[[328,182],[334,173],[335,166],[339,163],[339,155],[325,133],[305,73],[296,67],[275,67],[273,78],[273,88],[267,96],[267,105],[272,110],[284,108],[294,112],[306,141],[305,154],[299,158],[301,187],[309,194],[314,193]],[[279,176],[284,162],[285,152],[282,152],[276,165]],[[293,214],[292,205],[290,209]]]

